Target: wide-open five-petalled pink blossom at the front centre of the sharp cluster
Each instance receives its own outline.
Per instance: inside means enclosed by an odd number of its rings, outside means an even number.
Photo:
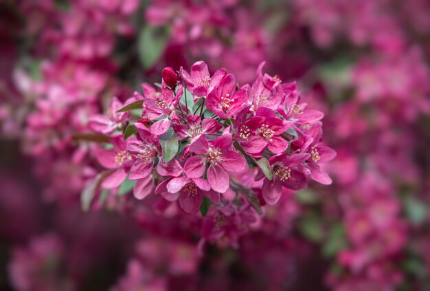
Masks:
[[[190,151],[196,153],[184,164],[183,171],[188,177],[201,177],[205,173],[206,162],[210,163],[207,169],[207,181],[214,191],[225,193],[229,188],[229,174],[245,169],[245,161],[231,151],[231,133],[225,129],[223,136],[214,140],[207,140],[205,135],[190,144]]]

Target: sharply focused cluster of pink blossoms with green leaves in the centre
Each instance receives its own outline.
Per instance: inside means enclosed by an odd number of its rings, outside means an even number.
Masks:
[[[320,165],[336,153],[322,144],[324,114],[306,109],[295,83],[263,74],[263,65],[242,87],[225,69],[211,76],[203,61],[190,74],[166,67],[156,87],[142,84],[124,104],[113,98],[89,122],[92,138],[104,141],[93,154],[105,169],[91,191],[132,182],[139,200],[156,195],[205,216],[231,204],[261,214],[283,188],[302,190],[307,178],[330,184]]]

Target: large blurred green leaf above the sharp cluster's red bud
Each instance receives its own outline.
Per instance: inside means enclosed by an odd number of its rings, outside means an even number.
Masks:
[[[152,68],[163,54],[169,39],[167,28],[146,25],[139,33],[139,58],[144,69]]]

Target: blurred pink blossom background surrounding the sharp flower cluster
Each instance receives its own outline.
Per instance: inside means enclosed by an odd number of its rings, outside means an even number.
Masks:
[[[0,0],[0,290],[430,290],[430,1]],[[82,211],[88,119],[161,69],[260,62],[324,111],[333,183],[199,253],[130,189]]]

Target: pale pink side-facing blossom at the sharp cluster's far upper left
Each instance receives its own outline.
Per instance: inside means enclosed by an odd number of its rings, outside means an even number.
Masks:
[[[95,132],[102,134],[111,134],[115,131],[125,120],[127,120],[128,116],[130,116],[130,112],[117,112],[124,104],[121,103],[118,98],[113,97],[111,100],[111,105],[109,105],[109,110],[106,115],[98,114],[92,116],[89,119],[89,128]]]

